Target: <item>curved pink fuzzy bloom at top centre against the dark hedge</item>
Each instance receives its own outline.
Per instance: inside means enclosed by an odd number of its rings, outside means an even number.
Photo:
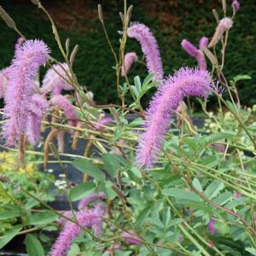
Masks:
[[[141,44],[143,54],[146,56],[148,73],[155,73],[154,80],[160,80],[164,76],[160,50],[156,39],[148,26],[134,22],[128,27],[129,38],[135,38]]]

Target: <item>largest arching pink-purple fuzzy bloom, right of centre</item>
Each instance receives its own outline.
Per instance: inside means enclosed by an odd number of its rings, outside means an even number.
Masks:
[[[177,110],[185,96],[206,98],[212,90],[210,73],[182,67],[173,76],[164,79],[149,104],[144,121],[145,131],[139,137],[137,166],[154,165],[164,143],[165,133],[170,126],[172,113]]]

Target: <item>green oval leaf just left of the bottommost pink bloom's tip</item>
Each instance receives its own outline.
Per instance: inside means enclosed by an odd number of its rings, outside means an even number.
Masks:
[[[36,212],[33,213],[29,218],[27,218],[27,224],[29,225],[44,225],[49,224],[58,219],[58,215],[54,212]]]

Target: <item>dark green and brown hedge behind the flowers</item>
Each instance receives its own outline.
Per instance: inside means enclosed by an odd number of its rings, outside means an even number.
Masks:
[[[79,83],[95,93],[100,103],[118,102],[116,96],[113,56],[108,48],[102,26],[98,20],[97,3],[102,4],[109,38],[115,49],[119,47],[121,22],[119,11],[123,9],[121,0],[42,0],[60,29],[62,41],[71,38],[71,45],[79,44],[74,70]],[[231,0],[227,0],[228,14],[232,14]],[[150,26],[160,45],[165,73],[173,73],[183,65],[195,66],[195,61],[180,47],[183,38],[198,44],[202,36],[211,37],[216,21],[212,9],[221,14],[218,0],[130,0],[133,4],[133,21]],[[59,61],[61,54],[55,43],[49,21],[29,0],[2,0],[1,5],[13,17],[26,38],[42,38],[49,44]],[[241,102],[246,105],[256,103],[256,1],[241,1],[241,11],[236,15],[235,25],[230,31],[230,44],[226,54],[224,73],[228,79],[237,74],[248,74],[251,80],[240,82],[238,90]],[[3,20],[0,20],[0,68],[9,66],[14,55],[17,35]],[[140,58],[142,52],[135,40],[128,40],[127,51],[134,50]],[[140,75],[145,78],[147,71],[142,64],[131,69],[130,79]],[[153,91],[152,91],[153,93]],[[150,97],[150,95],[148,95]],[[148,98],[143,99],[144,103]]]

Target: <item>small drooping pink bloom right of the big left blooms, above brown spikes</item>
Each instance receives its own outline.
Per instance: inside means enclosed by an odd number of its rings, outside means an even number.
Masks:
[[[75,126],[77,123],[77,114],[74,111],[73,105],[68,101],[66,96],[56,95],[50,100],[51,104],[57,108],[61,108],[68,119],[68,125]]]

